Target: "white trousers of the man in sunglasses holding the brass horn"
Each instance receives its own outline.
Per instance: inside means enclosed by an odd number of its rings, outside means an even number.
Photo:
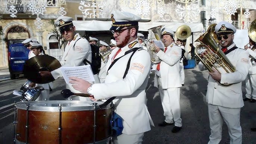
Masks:
[[[218,144],[221,141],[223,119],[228,126],[230,144],[242,143],[242,128],[240,126],[240,109],[208,104],[210,120],[210,141],[208,144]],[[222,119],[223,117],[223,119]]]

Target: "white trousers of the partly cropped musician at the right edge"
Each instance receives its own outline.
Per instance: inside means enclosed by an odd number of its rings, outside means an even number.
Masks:
[[[246,97],[256,100],[256,74],[247,75],[245,79]]]

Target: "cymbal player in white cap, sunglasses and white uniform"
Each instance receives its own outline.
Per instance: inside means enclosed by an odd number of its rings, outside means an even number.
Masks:
[[[89,65],[89,63],[84,63],[84,59],[91,62],[91,47],[85,38],[80,37],[80,35],[75,32],[75,26],[73,25],[73,18],[63,16],[54,22],[56,26],[59,27],[60,33],[63,35],[68,44],[65,47],[65,53],[63,54],[62,60],[60,61],[61,67],[71,67],[71,66],[84,66]],[[60,67],[60,68],[61,68]],[[41,71],[39,72],[41,76],[53,77],[54,79],[62,77],[60,68],[54,71]],[[91,82],[93,83],[93,82]],[[66,84],[66,88],[70,89],[73,93],[80,93],[75,90],[72,84]],[[72,100],[89,100],[87,97],[71,96]]]

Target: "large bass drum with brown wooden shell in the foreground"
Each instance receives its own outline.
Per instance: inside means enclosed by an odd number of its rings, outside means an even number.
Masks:
[[[94,104],[93,104],[94,103]],[[102,101],[26,101],[16,105],[18,144],[88,144],[110,140],[112,107]]]

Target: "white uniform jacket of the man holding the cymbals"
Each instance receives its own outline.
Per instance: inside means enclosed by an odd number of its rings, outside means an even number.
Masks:
[[[81,38],[79,34],[76,34],[74,39],[66,45],[65,52],[60,61],[60,64],[61,67],[84,66],[84,59],[87,59],[89,62],[91,62],[91,46],[85,38]],[[51,74],[53,75],[54,79],[62,77],[60,68],[51,71]],[[75,90],[72,87],[72,84],[66,84],[66,88],[71,90],[73,93],[81,93]]]

